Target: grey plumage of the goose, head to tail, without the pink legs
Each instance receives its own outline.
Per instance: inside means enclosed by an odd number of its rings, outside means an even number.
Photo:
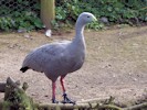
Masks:
[[[59,76],[64,77],[80,69],[84,63],[86,51],[84,26],[94,20],[96,18],[92,13],[80,14],[75,25],[75,37],[72,41],[45,44],[35,48],[24,58],[21,70],[25,72],[31,68],[42,72],[55,82]]]

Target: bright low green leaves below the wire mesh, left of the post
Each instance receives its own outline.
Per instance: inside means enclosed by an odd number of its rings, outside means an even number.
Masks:
[[[34,13],[29,12],[14,12],[11,16],[0,18],[0,29],[4,31],[25,29],[31,31],[34,29],[41,29],[42,22]]]

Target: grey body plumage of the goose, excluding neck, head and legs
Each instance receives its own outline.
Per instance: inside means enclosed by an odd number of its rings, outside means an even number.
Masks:
[[[67,73],[78,69],[84,63],[84,53],[85,50],[76,51],[75,47],[72,47],[70,41],[46,44],[32,51],[25,57],[22,68],[29,67],[43,72],[48,78],[55,81],[59,76],[65,76]]]

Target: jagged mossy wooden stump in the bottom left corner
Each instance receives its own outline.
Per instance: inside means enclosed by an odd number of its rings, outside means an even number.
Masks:
[[[3,110],[34,110],[33,100],[27,96],[23,88],[25,87],[21,88],[19,81],[14,81],[10,77],[7,79],[2,102],[2,108],[6,109]]]

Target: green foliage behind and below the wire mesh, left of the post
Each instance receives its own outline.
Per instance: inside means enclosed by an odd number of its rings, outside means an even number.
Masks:
[[[7,0],[8,1],[8,0]],[[38,11],[40,10],[40,3],[36,2],[33,7],[29,6],[27,0],[9,0],[9,2],[15,2],[9,7],[3,4],[0,7],[0,30],[38,30],[42,29],[43,24],[40,20]],[[31,7],[33,10],[31,10]],[[34,11],[36,10],[36,12]]]

